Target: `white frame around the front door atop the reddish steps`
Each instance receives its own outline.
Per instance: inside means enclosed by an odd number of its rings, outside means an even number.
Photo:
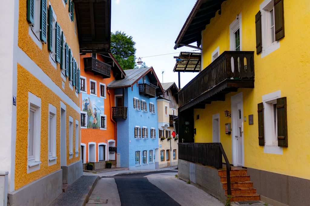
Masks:
[[[236,105],[241,103],[241,131],[242,131],[242,166],[244,166],[244,132],[243,132],[243,97],[242,92],[231,97],[231,120],[232,120],[232,164],[237,166],[237,130],[235,128],[237,121]]]

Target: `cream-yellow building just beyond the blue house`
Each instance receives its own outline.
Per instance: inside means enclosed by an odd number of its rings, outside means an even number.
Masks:
[[[155,167],[169,167],[178,165],[178,138],[173,137],[173,121],[178,117],[178,103],[176,94],[179,91],[174,82],[162,83],[164,94],[157,98],[158,115],[158,165]],[[171,140],[171,148],[170,148]],[[171,163],[171,164],[170,164]]]

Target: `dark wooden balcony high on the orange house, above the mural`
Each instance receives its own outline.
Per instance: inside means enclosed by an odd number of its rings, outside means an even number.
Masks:
[[[101,75],[103,78],[111,77],[111,66],[94,57],[84,58],[84,71],[91,71],[95,75]]]

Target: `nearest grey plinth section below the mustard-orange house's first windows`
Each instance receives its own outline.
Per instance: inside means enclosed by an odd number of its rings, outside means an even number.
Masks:
[[[8,205],[49,205],[62,193],[62,170],[57,170],[7,195]]]

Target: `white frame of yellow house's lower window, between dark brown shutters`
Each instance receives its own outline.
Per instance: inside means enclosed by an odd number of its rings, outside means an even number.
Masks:
[[[273,106],[274,102],[277,102],[277,99],[281,98],[281,90],[276,92],[271,92],[269,94],[262,96],[263,109],[264,109],[264,136],[265,136],[265,145],[264,153],[271,154],[283,154],[282,147],[278,147],[278,144],[274,141],[274,116],[273,116]]]

